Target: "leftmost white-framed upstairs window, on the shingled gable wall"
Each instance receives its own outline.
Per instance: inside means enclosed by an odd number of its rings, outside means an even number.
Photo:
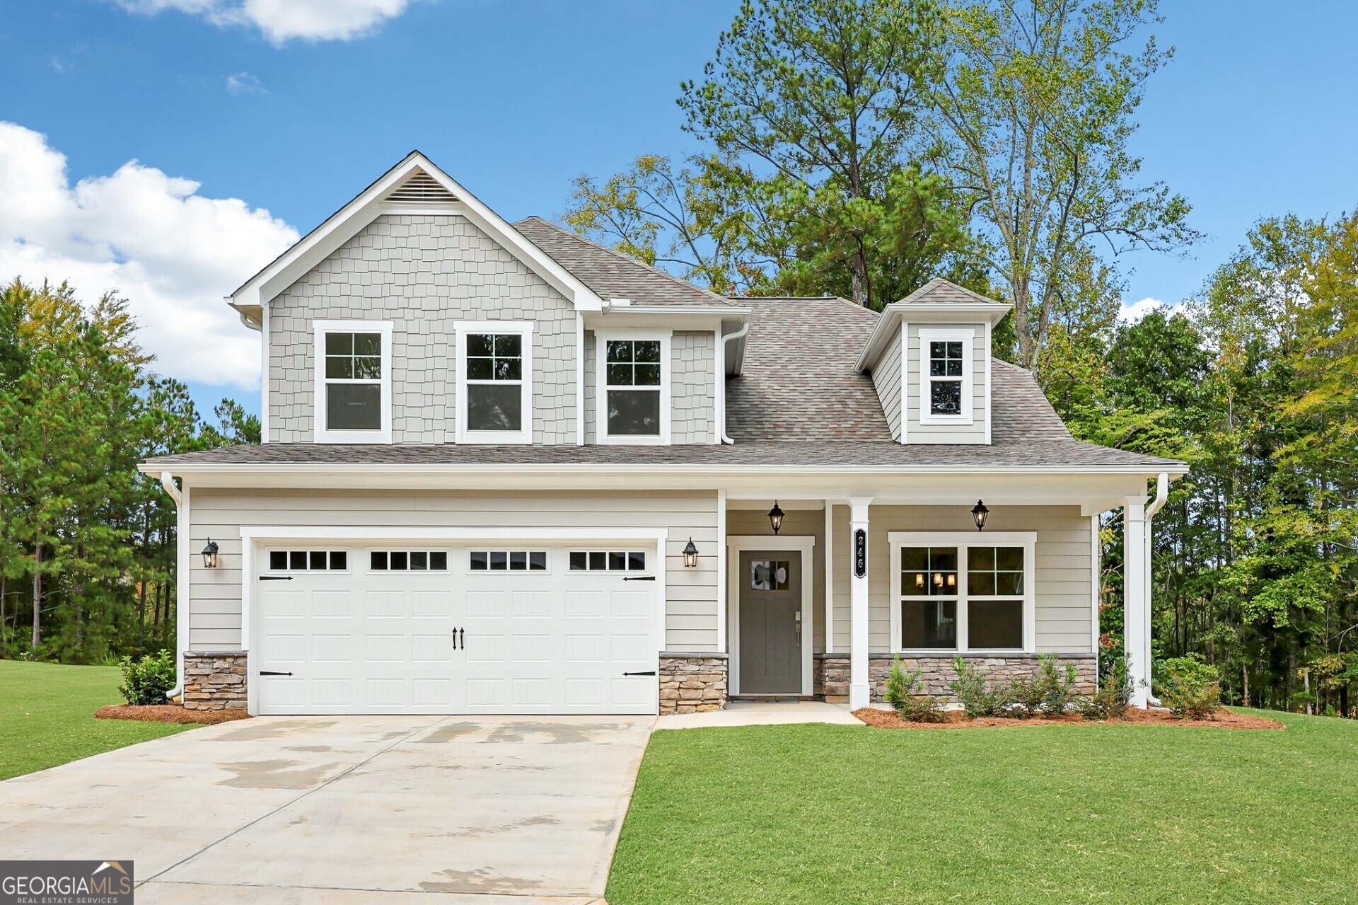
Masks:
[[[316,443],[391,443],[391,322],[312,326]]]

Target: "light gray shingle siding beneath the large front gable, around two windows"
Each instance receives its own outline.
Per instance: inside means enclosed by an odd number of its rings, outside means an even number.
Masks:
[[[534,321],[534,443],[576,442],[576,313],[456,215],[383,215],[269,304],[269,440],[311,442],[315,319],[392,321],[392,440],[452,443],[458,321]]]

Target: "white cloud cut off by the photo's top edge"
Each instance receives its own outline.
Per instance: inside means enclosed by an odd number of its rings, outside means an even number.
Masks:
[[[217,26],[253,26],[274,45],[352,41],[405,12],[410,0],[115,0],[132,12],[178,10]]]

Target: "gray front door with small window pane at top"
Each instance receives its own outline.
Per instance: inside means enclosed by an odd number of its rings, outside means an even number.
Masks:
[[[743,550],[739,587],[740,693],[801,694],[801,553]]]

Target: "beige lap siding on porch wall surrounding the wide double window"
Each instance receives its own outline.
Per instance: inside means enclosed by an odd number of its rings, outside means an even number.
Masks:
[[[891,531],[975,531],[966,507],[873,505],[868,512],[868,622],[873,652],[891,650]],[[1093,563],[1090,520],[1078,507],[994,507],[987,531],[1036,531],[1038,650],[1093,650]],[[849,537],[849,507],[834,511],[837,541]],[[835,652],[849,651],[849,541],[835,544]]]

